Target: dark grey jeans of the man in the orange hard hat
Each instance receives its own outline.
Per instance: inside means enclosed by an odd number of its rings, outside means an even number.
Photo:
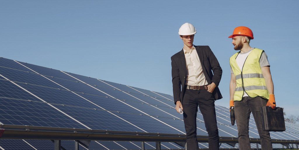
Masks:
[[[257,125],[257,131],[259,132],[261,145],[263,150],[271,150],[271,138],[268,131],[262,129],[262,119],[260,114],[260,107],[266,106],[267,100],[261,97],[243,97],[241,101],[234,101],[235,117],[238,127],[238,140],[240,150],[250,150],[249,143],[249,118],[252,112],[255,124]]]

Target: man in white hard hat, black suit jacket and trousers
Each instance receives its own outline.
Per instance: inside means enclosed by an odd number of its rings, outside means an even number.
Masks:
[[[209,149],[219,149],[215,100],[222,98],[218,85],[222,69],[209,46],[193,45],[196,29],[190,23],[179,29],[184,47],[171,57],[173,97],[176,111],[184,111],[187,148],[197,150],[197,107],[209,135]]]

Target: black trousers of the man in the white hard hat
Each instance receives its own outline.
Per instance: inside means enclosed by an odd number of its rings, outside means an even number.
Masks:
[[[209,135],[209,149],[219,149],[219,135],[214,102],[213,94],[207,90],[186,90],[182,105],[188,150],[199,149],[196,137],[196,115],[198,107],[203,115],[205,127]]]

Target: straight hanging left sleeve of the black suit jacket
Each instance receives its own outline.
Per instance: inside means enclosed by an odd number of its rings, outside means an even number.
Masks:
[[[177,101],[181,101],[181,79],[179,73],[179,67],[176,65],[173,57],[171,57],[171,75],[172,75],[172,87],[173,87],[173,99],[176,104]]]

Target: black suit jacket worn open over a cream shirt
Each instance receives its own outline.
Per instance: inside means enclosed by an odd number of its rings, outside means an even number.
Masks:
[[[209,46],[195,46],[195,48],[208,84],[212,82],[216,84],[213,95],[215,100],[219,100],[222,98],[218,88],[222,76],[222,69],[219,62]],[[187,88],[187,85],[185,85],[187,68],[183,49],[171,57],[171,67],[174,102],[181,101],[182,103]]]

